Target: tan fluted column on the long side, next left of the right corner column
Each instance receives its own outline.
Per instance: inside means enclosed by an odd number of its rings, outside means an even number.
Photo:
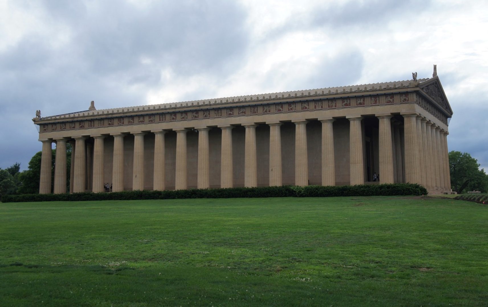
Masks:
[[[391,115],[378,116],[379,130],[379,175],[380,183],[393,183],[393,144],[391,142]]]

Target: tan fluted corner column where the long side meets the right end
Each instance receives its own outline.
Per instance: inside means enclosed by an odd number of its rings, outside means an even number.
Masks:
[[[417,149],[417,115],[405,114],[405,181],[407,183],[420,183],[418,179],[418,149]],[[381,174],[380,174],[381,178]]]

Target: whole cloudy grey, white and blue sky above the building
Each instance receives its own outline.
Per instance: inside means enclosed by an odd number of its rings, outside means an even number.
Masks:
[[[488,171],[487,0],[0,0],[0,167],[43,116],[431,77]]]

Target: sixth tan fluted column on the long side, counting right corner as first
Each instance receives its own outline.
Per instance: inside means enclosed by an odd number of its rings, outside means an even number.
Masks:
[[[283,185],[281,166],[281,125],[280,122],[269,125],[269,186]]]

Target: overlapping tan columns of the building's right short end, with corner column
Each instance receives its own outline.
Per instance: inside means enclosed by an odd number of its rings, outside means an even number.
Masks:
[[[405,179],[429,191],[450,191],[447,132],[417,114],[403,115]]]

